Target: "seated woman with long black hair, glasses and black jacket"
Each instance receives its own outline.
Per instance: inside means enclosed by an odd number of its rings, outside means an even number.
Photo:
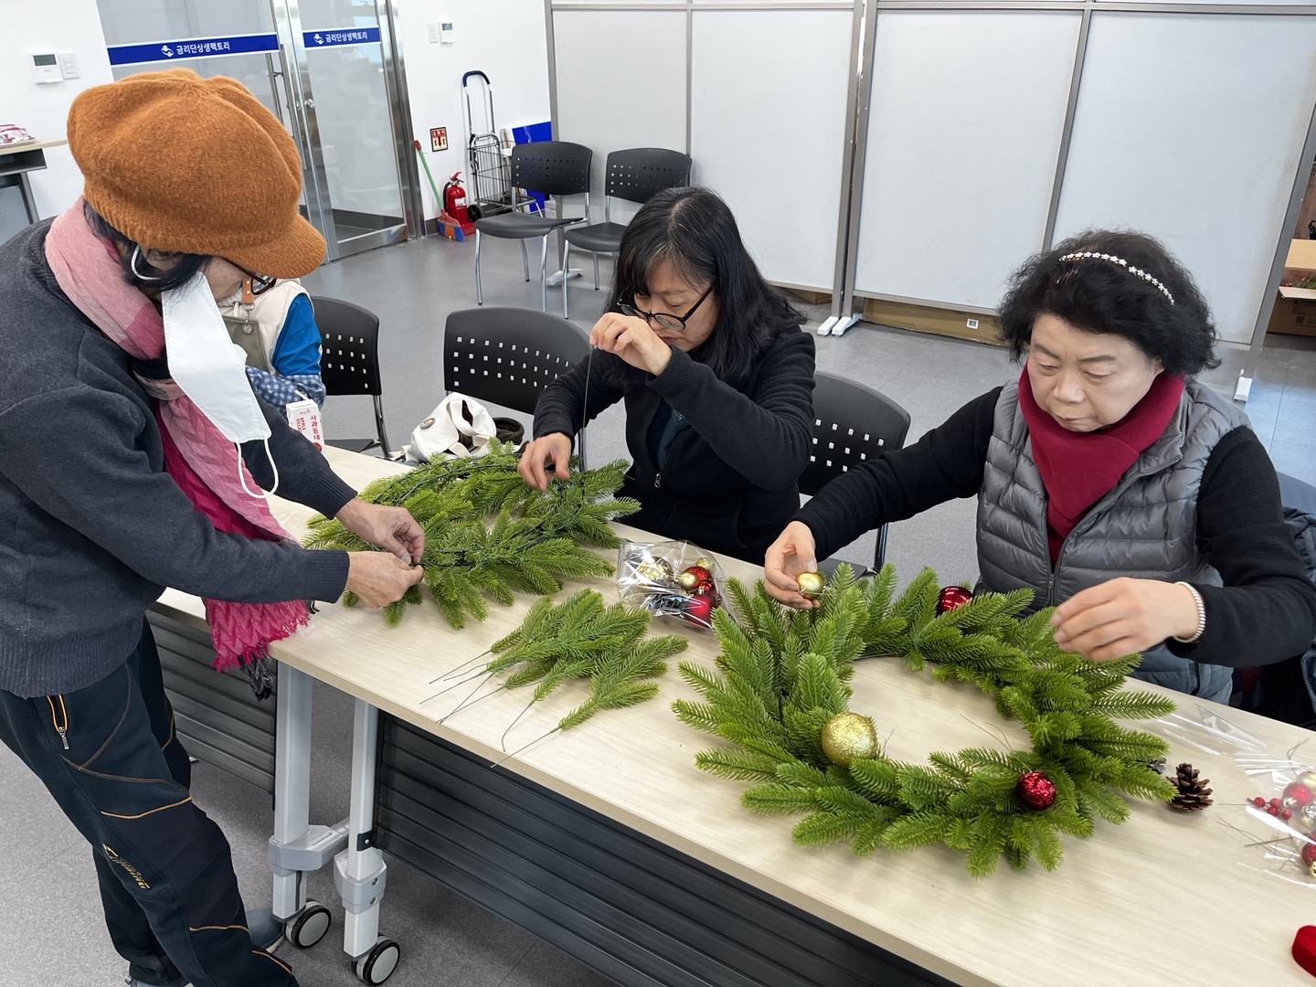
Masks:
[[[799,509],[809,461],[813,337],[707,188],[650,199],[626,226],[597,350],[534,409],[521,476],[567,476],[571,437],[625,403],[632,466],[622,519],[663,538],[759,561]]]

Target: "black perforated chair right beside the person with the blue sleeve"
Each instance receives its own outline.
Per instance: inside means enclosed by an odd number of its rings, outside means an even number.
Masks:
[[[320,379],[326,396],[368,393],[375,399],[378,438],[330,438],[329,445],[365,453],[379,446],[391,458],[379,382],[379,316],[340,299],[311,297],[320,326]]]

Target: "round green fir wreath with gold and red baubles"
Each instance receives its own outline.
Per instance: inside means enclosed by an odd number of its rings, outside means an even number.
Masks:
[[[795,842],[848,840],[857,854],[944,842],[966,854],[975,876],[1001,855],[1015,867],[1036,857],[1061,863],[1061,834],[1091,836],[1094,820],[1121,822],[1124,796],[1169,801],[1174,786],[1152,762],[1159,737],[1116,724],[1174,709],[1169,699],[1123,690],[1138,661],[1096,663],[1059,650],[1050,611],[1017,615],[1029,591],[982,594],[938,613],[936,574],[924,570],[898,597],[891,566],[858,580],[841,566],[821,607],[796,612],[730,580],[734,620],[713,616],[721,651],[711,671],[682,662],[703,701],[678,700],[676,716],[722,745],[696,765],[751,782],[754,812],[804,813]],[[974,747],[933,753],[925,765],[886,757],[873,721],[846,709],[857,661],[898,655],[938,680],[973,683],[1017,720],[1028,750]]]

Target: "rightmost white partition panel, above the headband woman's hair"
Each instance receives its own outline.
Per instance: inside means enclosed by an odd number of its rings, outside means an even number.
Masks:
[[[1159,237],[1252,338],[1316,103],[1316,17],[1094,14],[1057,240]]]

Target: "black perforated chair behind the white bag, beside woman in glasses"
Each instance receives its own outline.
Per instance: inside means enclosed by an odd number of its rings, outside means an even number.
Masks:
[[[590,359],[590,334],[532,308],[467,308],[443,328],[447,391],[534,413],[544,388]],[[579,437],[584,468],[584,428]]]

